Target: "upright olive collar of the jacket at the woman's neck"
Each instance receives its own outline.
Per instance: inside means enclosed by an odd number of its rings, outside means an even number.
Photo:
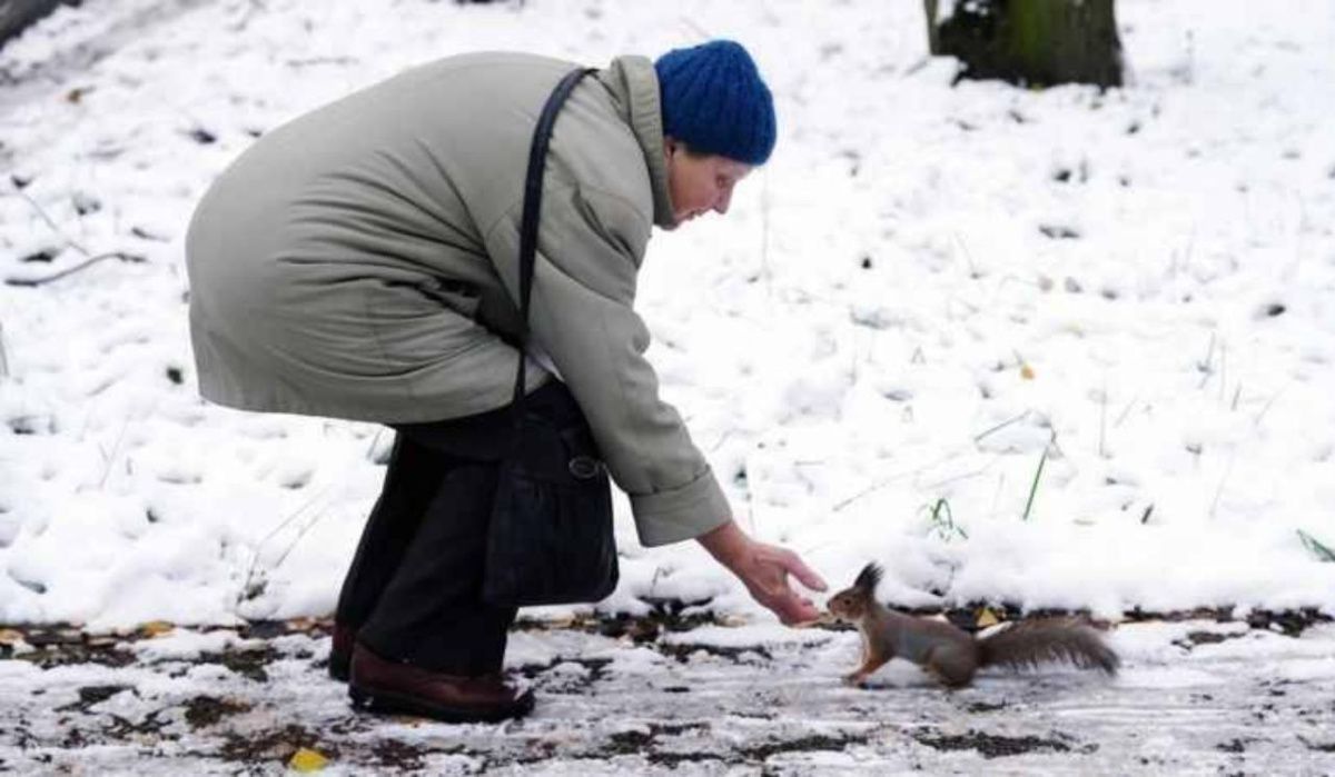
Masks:
[[[663,156],[663,117],[654,64],[643,56],[618,56],[607,69],[598,71],[598,80],[615,97],[622,119],[645,152],[649,183],[654,191],[654,223],[659,227],[673,226],[668,160]]]

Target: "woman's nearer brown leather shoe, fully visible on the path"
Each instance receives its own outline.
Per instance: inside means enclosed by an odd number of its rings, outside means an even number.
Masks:
[[[380,658],[364,645],[352,648],[352,705],[400,712],[450,724],[497,722],[533,710],[533,692],[517,692],[497,676],[461,677]]]

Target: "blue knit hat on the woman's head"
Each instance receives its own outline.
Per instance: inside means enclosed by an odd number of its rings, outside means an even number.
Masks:
[[[658,57],[663,132],[692,150],[764,164],[774,150],[774,97],[746,49],[732,40]]]

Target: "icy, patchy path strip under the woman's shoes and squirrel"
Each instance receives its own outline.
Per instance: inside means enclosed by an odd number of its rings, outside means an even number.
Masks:
[[[522,631],[510,665],[539,702],[499,726],[352,712],[318,631],[35,639],[47,646],[0,661],[0,770],[278,773],[304,748],[330,774],[1335,772],[1328,623],[1302,637],[1125,623],[1111,635],[1125,660],[1115,680],[985,672],[955,693],[897,662],[869,689],[841,686],[857,660],[849,631]]]

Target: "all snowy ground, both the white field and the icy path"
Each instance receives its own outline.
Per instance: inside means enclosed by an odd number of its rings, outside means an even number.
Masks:
[[[734,212],[654,238],[639,308],[748,530],[834,585],[881,561],[902,606],[1335,614],[1335,563],[1304,542],[1335,547],[1335,13],[1117,12],[1129,80],[1103,95],[952,87],[906,0],[52,15],[0,51],[0,623],[85,630],[60,666],[0,661],[0,769],[279,769],[296,741],[335,766],[441,770],[1335,769],[1328,625],[1214,642],[1188,634],[1220,627],[1123,623],[1111,684],[945,694],[901,668],[845,690],[850,634],[768,630],[698,549],[639,547],[625,503],[599,611],[708,602],[750,626],[688,642],[764,652],[521,634],[538,714],[450,729],[354,716],[319,680],[322,639],[92,637],[327,615],[383,475],[372,426],[198,399],[182,239],[218,171],[437,56],[598,64],[709,36],[754,52],[778,150]]]

